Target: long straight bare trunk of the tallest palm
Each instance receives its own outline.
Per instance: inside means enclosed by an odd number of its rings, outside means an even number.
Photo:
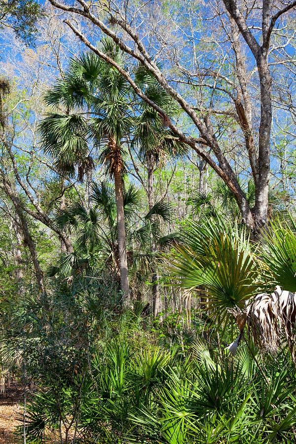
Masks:
[[[115,198],[116,198],[116,212],[117,212],[117,235],[118,235],[118,254],[120,265],[120,286],[123,292],[123,305],[129,306],[131,297],[128,283],[127,273],[127,257],[125,245],[125,221],[124,221],[124,206],[123,206],[123,186],[121,171],[114,171],[115,184]]]

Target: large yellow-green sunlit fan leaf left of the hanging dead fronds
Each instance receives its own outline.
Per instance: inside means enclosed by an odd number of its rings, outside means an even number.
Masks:
[[[229,239],[221,242],[212,241],[211,245],[202,243],[205,256],[197,259],[194,252],[176,247],[177,258],[173,269],[177,279],[185,288],[205,286],[205,293],[213,310],[244,309],[245,301],[256,294],[257,267],[252,257],[245,258],[237,243],[230,244]],[[212,259],[210,259],[212,258]]]

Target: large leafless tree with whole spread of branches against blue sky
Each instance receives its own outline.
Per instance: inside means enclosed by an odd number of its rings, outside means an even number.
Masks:
[[[49,1],[53,6],[66,13],[64,17],[65,23],[72,29],[74,34],[91,51],[94,51],[101,58],[111,63],[129,81],[138,96],[163,116],[167,125],[180,140],[193,148],[216,171],[233,192],[243,221],[256,237],[260,228],[266,224],[268,214],[270,135],[273,105],[272,70],[269,56],[272,49],[271,45],[275,41],[274,35],[280,33],[280,23],[285,20],[285,16],[287,17],[289,13],[293,12],[296,2],[284,3],[282,1],[271,2],[270,0],[263,0],[257,3],[223,0],[222,2],[211,3],[210,7],[205,8],[208,22],[210,23],[210,20],[215,23],[220,21],[221,29],[225,28],[224,41],[230,42],[229,51],[235,56],[233,70],[229,70],[229,80],[223,76],[221,69],[217,70],[217,63],[214,58],[212,66],[203,67],[202,70],[198,68],[198,57],[194,53],[194,44],[197,38],[191,40],[193,43],[189,58],[192,60],[189,63],[190,69],[187,69],[188,54],[185,54],[184,50],[188,50],[188,45],[178,46],[178,40],[179,43],[181,41],[184,43],[182,32],[180,32],[182,20],[179,22],[172,20],[173,13],[165,16],[161,11],[161,3],[154,7],[155,4],[153,3],[152,5],[150,2],[136,6],[132,2],[89,3],[84,0],[73,0],[66,3],[58,0]],[[190,18],[190,13],[185,14],[185,10],[186,5],[184,4],[184,9],[181,8],[174,13],[174,17],[178,16],[178,14],[179,16],[186,15],[185,18],[182,17],[183,20],[186,20],[184,29],[187,27],[187,22],[192,19],[192,17]],[[195,2],[190,3],[190,11],[192,16],[195,13],[194,20],[197,23],[196,16],[200,15],[199,5]],[[131,60],[145,66],[148,72],[157,79],[161,87],[170,94],[174,101],[178,102],[186,118],[190,119],[192,126],[197,130],[193,131],[192,135],[187,135],[182,130],[182,126],[176,125],[166,115],[164,110],[149,100],[143,90],[137,85],[129,70],[122,69],[116,65],[114,60],[103,54],[93,43],[91,33],[86,35],[75,24],[76,16],[84,20],[85,26],[89,24],[91,29],[95,27],[104,35],[112,38]],[[195,32],[201,33],[201,30],[195,29]],[[204,33],[205,38],[207,38],[206,29]],[[169,37],[164,40],[164,35],[174,37],[177,44],[173,45],[172,38],[170,40]],[[187,40],[190,40],[190,36],[187,37]],[[174,65],[169,67],[171,71],[173,70],[176,76],[175,79],[170,79],[166,67],[164,66],[164,69],[161,69],[159,63],[157,63],[158,61],[165,61],[167,63],[168,54],[171,55],[171,59],[174,59],[175,62]],[[218,56],[221,57],[221,54],[218,54]],[[250,70],[249,67],[247,69],[246,57],[253,58],[253,70]],[[226,59],[227,51],[222,62],[225,62]],[[254,99],[248,88],[250,75],[256,77],[258,85],[258,125],[254,124],[256,123],[254,122],[253,115],[255,108]],[[182,76],[187,77],[187,83],[191,86],[196,79],[202,79],[202,76],[203,78],[211,78],[210,90],[212,90],[212,93],[210,98],[212,100],[207,101],[206,107],[204,107],[204,103],[199,103],[197,107],[194,106],[191,100],[191,87],[183,90],[179,87],[178,81],[182,80]],[[189,89],[191,89],[191,92]],[[224,105],[218,110],[213,110],[213,98],[217,91],[224,92],[228,103],[231,102],[235,106],[234,111],[227,112],[230,113],[230,116],[232,114],[237,121],[243,136],[244,148],[248,155],[249,170],[252,173],[256,186],[256,200],[253,208],[250,208],[246,196],[239,185],[233,164],[227,159],[224,144],[217,132],[219,125],[214,125],[213,123],[215,111],[221,112],[223,115],[226,114]],[[196,131],[199,134],[196,134]]]

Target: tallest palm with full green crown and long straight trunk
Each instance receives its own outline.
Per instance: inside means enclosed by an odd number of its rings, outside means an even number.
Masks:
[[[119,48],[103,41],[103,51],[122,63]],[[130,291],[124,219],[124,137],[133,119],[128,84],[114,68],[93,53],[72,60],[64,78],[46,94],[48,105],[63,105],[63,114],[49,113],[40,124],[43,148],[54,156],[56,168],[79,178],[93,168],[89,145],[101,148],[100,159],[114,179],[117,213],[118,254],[123,303],[129,305]]]

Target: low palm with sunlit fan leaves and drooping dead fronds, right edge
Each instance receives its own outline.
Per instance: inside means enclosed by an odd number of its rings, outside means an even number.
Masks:
[[[217,216],[191,223],[182,244],[170,255],[170,270],[177,285],[189,291],[204,287],[208,308],[219,325],[235,320],[239,335],[227,347],[230,353],[235,354],[246,326],[255,344],[272,352],[284,332],[296,368],[296,223],[292,218],[290,224],[272,222],[260,251],[254,252],[237,224]]]

